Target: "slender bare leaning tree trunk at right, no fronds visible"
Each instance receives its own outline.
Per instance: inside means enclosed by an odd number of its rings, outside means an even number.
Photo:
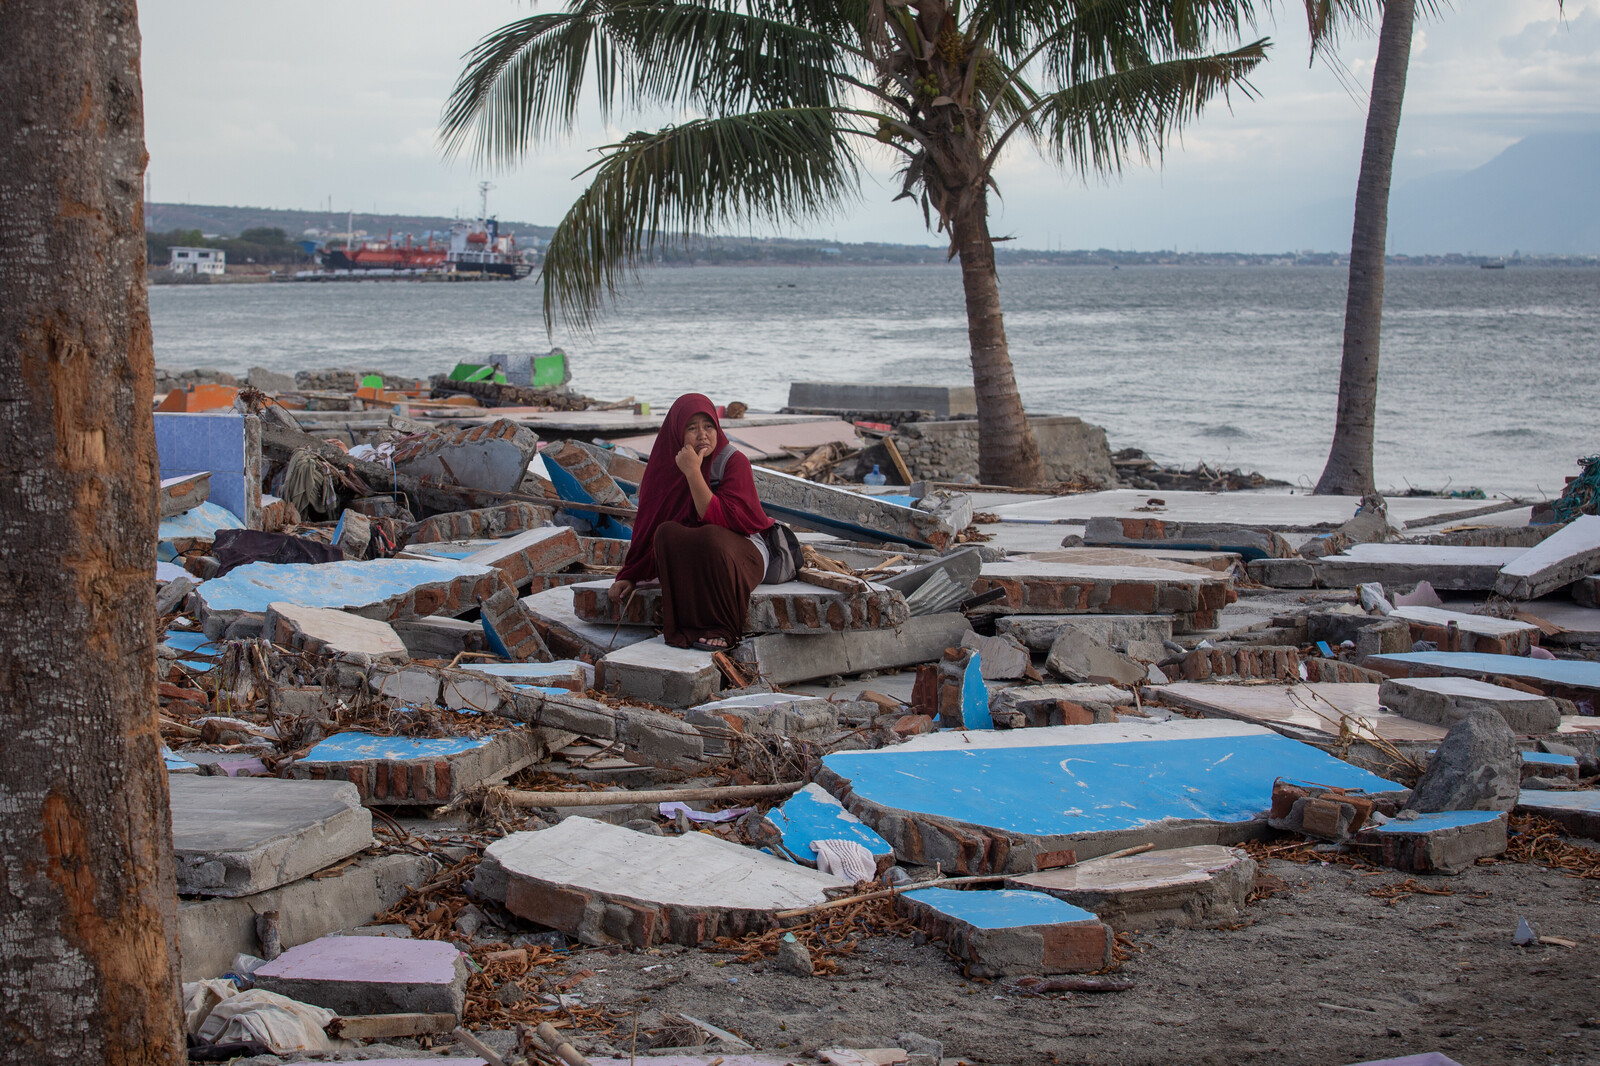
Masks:
[[[1384,317],[1384,253],[1389,245],[1389,179],[1400,106],[1411,64],[1416,0],[1387,0],[1378,32],[1373,98],[1366,110],[1362,174],[1355,184],[1350,234],[1350,288],[1344,299],[1344,360],[1339,365],[1339,413],[1333,447],[1322,469],[1322,495],[1363,496],[1373,483],[1373,424],[1378,416],[1378,335]]]

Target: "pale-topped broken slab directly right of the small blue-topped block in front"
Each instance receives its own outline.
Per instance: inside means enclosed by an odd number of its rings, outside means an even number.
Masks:
[[[1006,879],[1093,911],[1117,932],[1238,919],[1256,887],[1256,863],[1240,848],[1202,844],[1096,860]]]

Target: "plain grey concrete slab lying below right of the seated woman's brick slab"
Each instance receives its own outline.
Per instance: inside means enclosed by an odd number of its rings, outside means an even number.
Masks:
[[[773,685],[931,663],[960,645],[973,626],[965,615],[912,618],[894,629],[854,629],[816,635],[760,634],[744,639],[733,658],[755,666]]]

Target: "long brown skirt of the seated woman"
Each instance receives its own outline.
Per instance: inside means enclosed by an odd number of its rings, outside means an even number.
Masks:
[[[662,522],[654,547],[667,643],[686,648],[707,637],[722,637],[730,648],[738,643],[750,592],[765,576],[750,538],[720,525]]]

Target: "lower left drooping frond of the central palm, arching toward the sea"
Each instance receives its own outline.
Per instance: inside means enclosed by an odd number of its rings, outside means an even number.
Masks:
[[[728,224],[829,214],[859,186],[826,107],[702,118],[634,133],[605,150],[544,258],[544,320],[590,327],[619,275],[656,246]]]

